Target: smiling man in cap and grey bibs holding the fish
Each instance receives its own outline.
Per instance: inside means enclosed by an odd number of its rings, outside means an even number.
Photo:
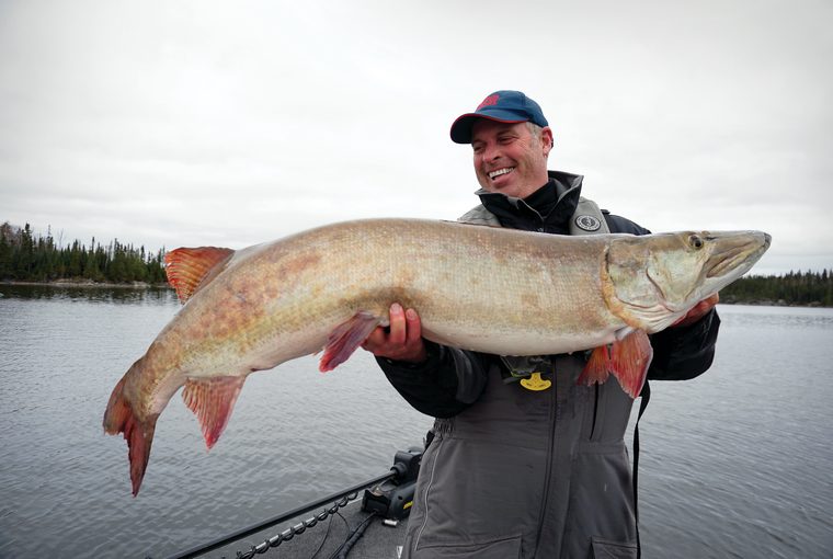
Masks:
[[[471,145],[482,186],[481,205],[461,221],[555,235],[649,232],[580,197],[582,176],[547,171],[552,130],[521,92],[492,93],[450,135]],[[711,365],[716,303],[701,301],[651,338],[649,379],[692,378]],[[578,386],[585,354],[441,346],[422,339],[418,310],[395,304],[389,329],[363,345],[411,406],[437,418],[402,557],[637,557],[624,442],[632,400],[618,383]]]

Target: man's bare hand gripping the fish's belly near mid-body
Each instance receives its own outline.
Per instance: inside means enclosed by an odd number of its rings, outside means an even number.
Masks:
[[[422,341],[420,316],[413,309],[404,310],[395,303],[390,306],[390,327],[377,327],[362,347],[377,357],[422,363],[429,355]]]

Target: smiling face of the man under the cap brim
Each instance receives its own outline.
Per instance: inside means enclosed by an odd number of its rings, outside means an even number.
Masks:
[[[540,138],[535,138],[526,123],[479,118],[471,128],[477,181],[489,192],[525,198],[548,180],[551,145],[549,127],[541,128]]]

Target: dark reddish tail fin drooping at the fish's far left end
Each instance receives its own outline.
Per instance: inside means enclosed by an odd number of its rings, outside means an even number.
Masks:
[[[104,412],[104,431],[110,435],[124,433],[124,438],[127,441],[127,457],[130,461],[133,497],[136,497],[139,494],[141,480],[148,467],[158,415],[149,417],[144,421],[139,420],[124,395],[124,378],[119,380],[110,396],[110,402]]]

